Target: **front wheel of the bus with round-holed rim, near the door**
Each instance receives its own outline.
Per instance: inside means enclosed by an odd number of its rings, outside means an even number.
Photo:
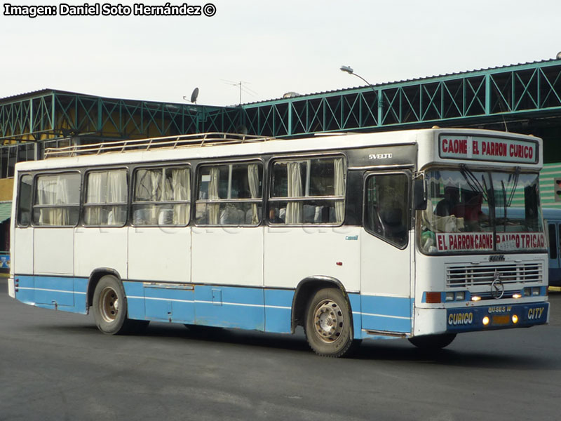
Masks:
[[[344,356],[360,343],[353,341],[349,302],[339,288],[323,288],[312,295],[304,331],[311,349],[320,356]]]

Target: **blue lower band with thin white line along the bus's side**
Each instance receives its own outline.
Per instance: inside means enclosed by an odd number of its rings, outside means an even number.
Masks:
[[[18,300],[45,308],[86,312],[88,279],[16,276]],[[131,319],[290,333],[295,290],[241,286],[148,284],[123,281]],[[365,330],[410,332],[413,300],[349,293],[356,339]],[[56,302],[56,305],[55,305]]]

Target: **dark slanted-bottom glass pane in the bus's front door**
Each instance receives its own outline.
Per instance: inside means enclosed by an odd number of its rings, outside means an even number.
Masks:
[[[371,175],[365,188],[365,229],[395,246],[407,244],[410,178],[404,173]]]

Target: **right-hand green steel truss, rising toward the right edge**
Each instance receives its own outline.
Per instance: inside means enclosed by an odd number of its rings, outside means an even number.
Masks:
[[[561,61],[257,102],[243,111],[249,133],[276,137],[560,116]]]

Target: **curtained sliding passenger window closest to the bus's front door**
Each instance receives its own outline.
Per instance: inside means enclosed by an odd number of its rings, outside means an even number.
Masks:
[[[343,158],[279,160],[271,171],[268,216],[272,224],[342,224]]]

